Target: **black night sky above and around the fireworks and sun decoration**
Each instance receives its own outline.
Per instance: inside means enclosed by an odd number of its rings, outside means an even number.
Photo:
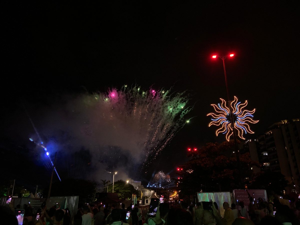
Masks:
[[[153,164],[153,172],[172,172],[186,160],[187,146],[225,140],[215,137],[206,116],[210,104],[226,99],[222,61],[212,60],[213,53],[235,53],[226,59],[230,96],[248,100],[259,120],[247,138],[300,116],[300,20],[293,4],[19,2],[4,11],[2,147],[30,149],[27,133],[34,130],[24,106],[39,129],[43,121],[35,111],[62,95],[135,83],[144,89],[174,86],[192,94],[190,116],[196,117]],[[7,162],[12,155],[5,155]],[[34,167],[34,158],[28,160]]]

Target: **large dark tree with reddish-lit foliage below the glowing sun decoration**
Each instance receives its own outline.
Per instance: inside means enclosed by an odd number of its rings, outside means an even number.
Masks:
[[[228,191],[238,186],[238,165],[234,142],[207,143],[197,151],[189,152],[191,160],[180,170],[178,186],[185,195],[202,191]],[[258,163],[251,161],[250,154],[240,155],[243,177],[251,177],[251,167]],[[183,172],[181,172],[183,171]]]

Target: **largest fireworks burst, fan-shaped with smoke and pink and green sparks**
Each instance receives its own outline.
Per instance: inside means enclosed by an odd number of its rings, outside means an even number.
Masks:
[[[143,91],[126,85],[122,90],[112,88],[107,93],[83,96],[84,106],[74,105],[73,113],[87,117],[80,130],[93,139],[93,149],[105,153],[116,146],[122,153],[129,153],[129,160],[136,166],[141,164],[146,169],[186,124],[184,116],[191,110],[186,97],[185,92]]]

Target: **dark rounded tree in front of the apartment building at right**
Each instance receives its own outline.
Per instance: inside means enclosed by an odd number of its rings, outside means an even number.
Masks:
[[[274,192],[276,194],[283,194],[283,190],[287,186],[288,181],[280,172],[264,172],[260,173],[253,182],[249,185],[251,189],[265,189],[269,194]]]

